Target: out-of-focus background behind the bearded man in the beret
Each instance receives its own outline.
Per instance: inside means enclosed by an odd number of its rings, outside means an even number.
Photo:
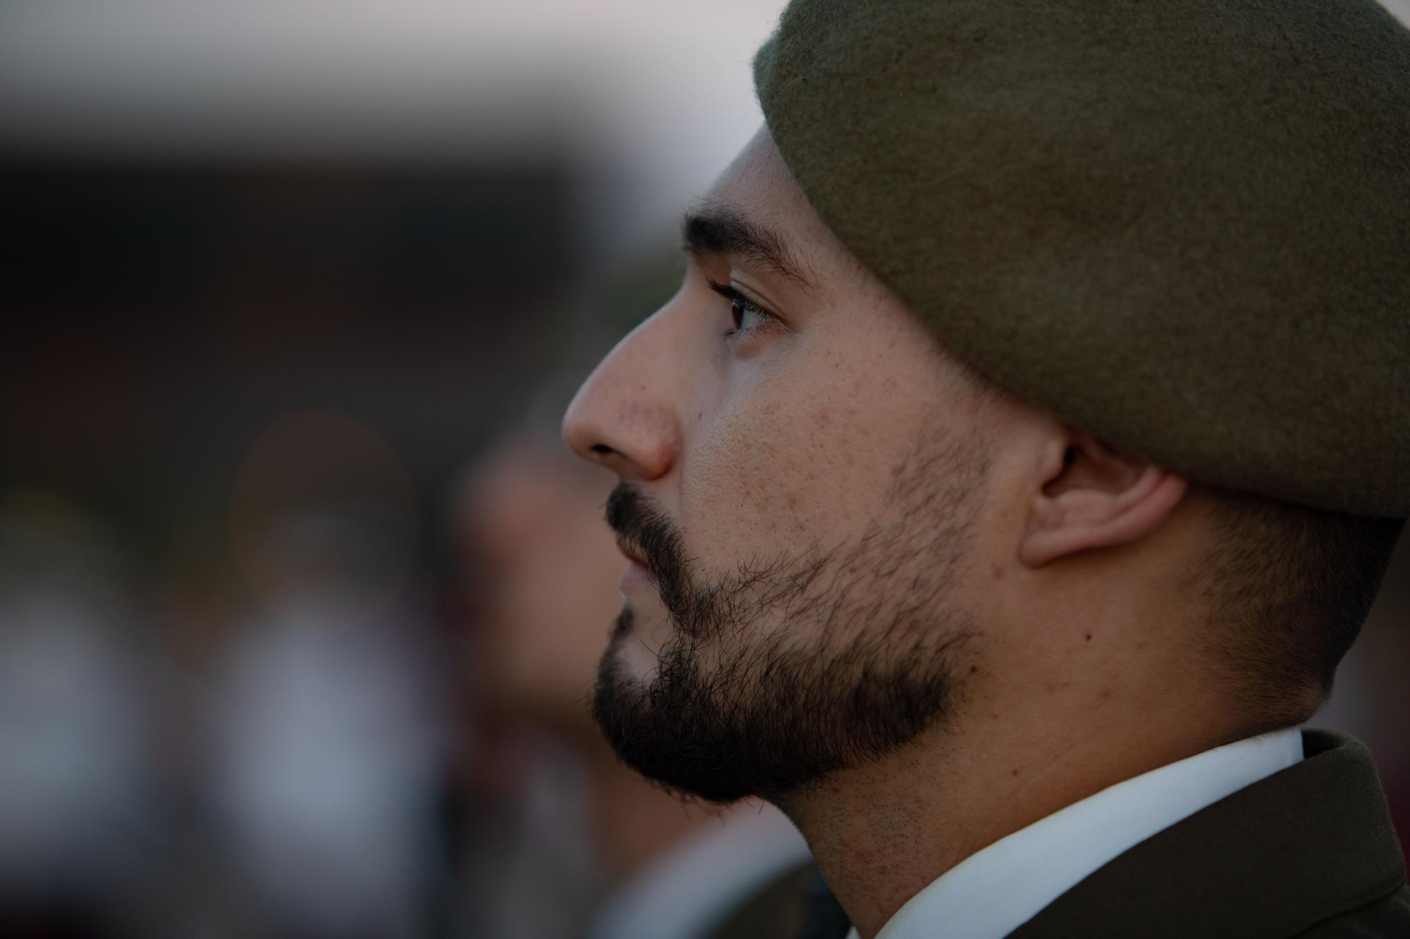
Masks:
[[[721,876],[584,722],[556,427],[781,6],[0,3],[0,932],[625,936]],[[1404,835],[1407,554],[1323,720]]]

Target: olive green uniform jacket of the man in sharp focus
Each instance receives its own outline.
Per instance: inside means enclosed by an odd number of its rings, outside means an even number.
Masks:
[[[1304,760],[1141,842],[1011,933],[1410,938],[1410,890],[1366,747],[1303,732]]]

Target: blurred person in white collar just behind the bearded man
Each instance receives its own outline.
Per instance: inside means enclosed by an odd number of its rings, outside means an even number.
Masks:
[[[682,804],[625,767],[592,725],[602,636],[582,623],[620,603],[620,556],[602,526],[609,481],[564,450],[558,413],[540,407],[499,440],[457,513],[477,595],[474,675],[499,728],[475,759],[482,778],[498,777],[505,814],[478,839],[479,932],[792,935],[812,871],[797,829],[757,802]]]

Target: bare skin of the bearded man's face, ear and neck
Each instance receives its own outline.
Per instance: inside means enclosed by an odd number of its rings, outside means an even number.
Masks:
[[[805,282],[757,258],[694,254],[680,293],[598,367],[564,420],[574,451],[671,520],[694,570],[722,578],[752,558],[846,544],[887,515],[925,434],[987,453],[962,561],[932,601],[935,629],[974,633],[946,718],[877,760],[770,794],[863,938],[994,840],[1273,729],[1241,711],[1191,601],[1210,536],[1197,488],[984,393],[828,231],[767,128],[704,207],[774,231]],[[709,281],[777,321],[726,337],[730,302]],[[623,599],[633,642],[613,654],[646,685],[677,637],[650,581],[626,578]],[[766,633],[807,646],[821,626],[774,610],[743,629],[705,640],[702,668]],[[1317,691],[1306,696],[1310,712]]]

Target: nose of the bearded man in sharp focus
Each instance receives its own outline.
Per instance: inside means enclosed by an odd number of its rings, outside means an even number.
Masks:
[[[563,417],[568,447],[623,479],[658,479],[680,457],[678,393],[685,369],[663,341],[668,309],[618,343]]]

